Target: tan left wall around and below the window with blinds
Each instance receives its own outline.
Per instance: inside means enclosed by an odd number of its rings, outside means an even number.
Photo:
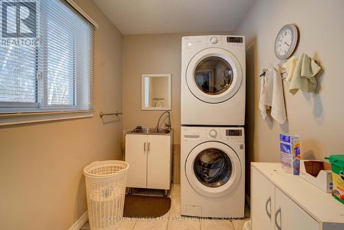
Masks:
[[[0,127],[0,229],[65,230],[87,210],[83,167],[121,159],[122,34],[92,0],[77,0],[95,31],[93,118]]]

